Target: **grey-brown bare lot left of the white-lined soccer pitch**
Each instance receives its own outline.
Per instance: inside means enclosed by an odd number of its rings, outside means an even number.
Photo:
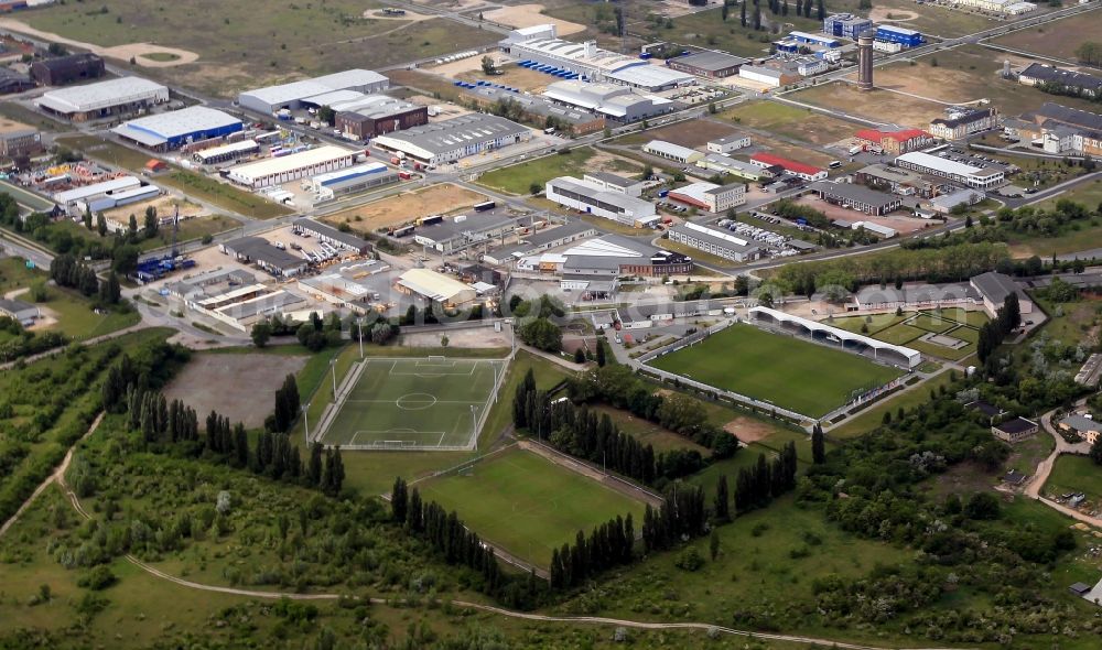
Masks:
[[[262,426],[271,412],[271,396],[283,379],[306,365],[306,357],[287,355],[195,355],[164,390],[169,400],[180,399],[204,418],[212,410],[244,422],[249,429]]]

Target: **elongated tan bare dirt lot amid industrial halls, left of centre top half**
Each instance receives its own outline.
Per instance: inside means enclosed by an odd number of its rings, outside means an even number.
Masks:
[[[334,213],[322,217],[322,220],[334,226],[348,224],[356,229],[376,231],[401,226],[418,217],[446,215],[468,208],[485,198],[485,195],[477,192],[444,183]]]

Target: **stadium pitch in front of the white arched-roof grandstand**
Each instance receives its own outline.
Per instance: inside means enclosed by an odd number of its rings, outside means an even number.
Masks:
[[[841,407],[856,390],[903,375],[852,353],[746,324],[733,325],[650,365],[811,418]]]

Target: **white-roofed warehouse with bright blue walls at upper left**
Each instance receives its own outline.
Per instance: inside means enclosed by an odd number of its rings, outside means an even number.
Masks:
[[[168,151],[199,140],[224,138],[241,128],[241,120],[231,115],[205,106],[192,106],[130,120],[111,131],[147,149]]]

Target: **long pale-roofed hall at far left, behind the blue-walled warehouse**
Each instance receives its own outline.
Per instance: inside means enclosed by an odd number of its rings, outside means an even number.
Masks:
[[[169,89],[141,77],[119,77],[87,86],[51,90],[35,105],[42,110],[84,122],[139,110],[169,101]]]

